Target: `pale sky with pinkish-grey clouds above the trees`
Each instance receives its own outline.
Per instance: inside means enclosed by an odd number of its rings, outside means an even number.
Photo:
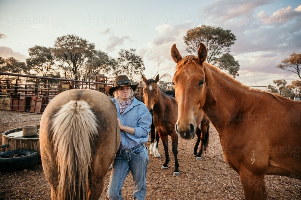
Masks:
[[[28,48],[52,47],[57,37],[76,34],[114,58],[120,49],[134,48],[144,61],[146,78],[171,68],[170,76],[163,79],[171,81],[172,45],[182,57],[188,55],[186,32],[210,25],[236,36],[230,53],[240,64],[238,81],[252,87],[273,85],[276,79],[290,84],[298,76],[276,66],[291,53],[301,53],[300,19],[298,0],[0,0],[0,55],[25,61]]]

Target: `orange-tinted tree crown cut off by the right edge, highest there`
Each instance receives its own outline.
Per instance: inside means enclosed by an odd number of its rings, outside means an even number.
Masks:
[[[282,70],[296,73],[299,76],[299,79],[301,81],[301,76],[300,76],[301,53],[299,53],[299,54],[292,53],[289,58],[284,58],[282,63],[283,64],[278,64],[276,67],[280,68]]]

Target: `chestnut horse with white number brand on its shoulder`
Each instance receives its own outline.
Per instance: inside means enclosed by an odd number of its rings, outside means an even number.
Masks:
[[[182,58],[175,44],[171,55],[178,135],[194,134],[202,109],[219,133],[225,161],[240,175],[246,200],[268,199],[265,174],[300,177],[301,102],[241,84],[205,62],[203,43],[197,56]]]

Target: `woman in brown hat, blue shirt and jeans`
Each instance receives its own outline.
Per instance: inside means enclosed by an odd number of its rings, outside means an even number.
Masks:
[[[107,93],[114,97],[112,101],[117,108],[121,134],[107,190],[108,197],[112,200],[123,199],[121,188],[130,171],[134,181],[134,199],[143,200],[146,194],[149,160],[144,143],[147,142],[148,132],[151,130],[152,116],[147,107],[134,98],[137,87],[138,84],[129,85],[129,79],[125,75],[117,76],[113,87],[106,87]]]

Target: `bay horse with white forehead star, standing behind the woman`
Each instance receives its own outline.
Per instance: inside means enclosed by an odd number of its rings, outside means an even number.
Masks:
[[[142,79],[145,82],[143,88],[143,98],[147,109],[154,116],[154,125],[163,143],[165,163],[162,165],[161,170],[168,169],[168,163],[170,161],[168,153],[168,136],[170,136],[172,140],[172,153],[175,157],[175,170],[173,176],[178,176],[180,175],[178,169],[178,135],[175,132],[175,122],[178,118],[178,105],[174,97],[166,94],[157,85],[159,78],[159,74],[155,79],[147,79],[142,75]],[[200,111],[200,113],[197,115],[198,123],[200,123],[202,120],[206,120],[206,118],[203,118],[203,116],[203,112]],[[207,119],[207,126],[208,125],[209,120]],[[204,125],[204,127],[202,127],[203,130],[207,131],[207,126]]]

